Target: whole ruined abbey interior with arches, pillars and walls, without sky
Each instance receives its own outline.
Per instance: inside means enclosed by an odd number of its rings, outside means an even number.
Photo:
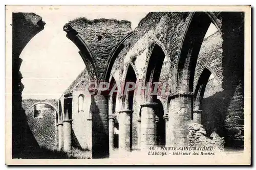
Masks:
[[[217,31],[205,37],[210,25]],[[40,142],[63,152],[88,150],[92,158],[156,145],[243,150],[243,12],[151,12],[135,30],[126,20],[67,21],[63,31],[84,70],[58,101],[25,108],[19,55],[44,27],[34,13],[13,13],[13,158],[33,154]],[[157,94],[120,90],[128,82],[159,82]],[[37,140],[28,118],[40,103],[53,108],[50,142]]]

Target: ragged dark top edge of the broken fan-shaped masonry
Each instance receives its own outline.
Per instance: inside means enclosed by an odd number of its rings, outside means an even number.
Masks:
[[[70,20],[68,22],[69,23],[72,23],[72,22],[84,22],[84,23],[87,23],[89,25],[92,25],[93,23],[98,23],[98,22],[108,22],[108,21],[113,21],[115,23],[125,23],[125,24],[132,24],[131,21],[128,21],[128,20],[117,20],[117,19],[107,19],[107,18],[100,18],[100,19],[88,19],[87,17],[78,17],[78,18],[75,18],[73,20]]]

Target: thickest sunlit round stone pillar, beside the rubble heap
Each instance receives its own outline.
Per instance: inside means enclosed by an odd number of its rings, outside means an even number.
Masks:
[[[193,94],[193,92],[180,92],[170,95],[172,105],[170,105],[168,129],[172,145],[188,146],[188,127],[192,118]]]

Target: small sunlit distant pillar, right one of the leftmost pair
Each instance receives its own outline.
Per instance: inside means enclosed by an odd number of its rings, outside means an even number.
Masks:
[[[72,136],[71,136],[71,129],[72,129],[72,119],[63,120],[63,150],[65,152],[72,151]]]

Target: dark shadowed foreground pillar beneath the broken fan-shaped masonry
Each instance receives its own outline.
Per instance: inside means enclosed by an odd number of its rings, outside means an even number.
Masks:
[[[92,95],[92,158],[109,158],[109,94],[103,89],[89,91]]]

